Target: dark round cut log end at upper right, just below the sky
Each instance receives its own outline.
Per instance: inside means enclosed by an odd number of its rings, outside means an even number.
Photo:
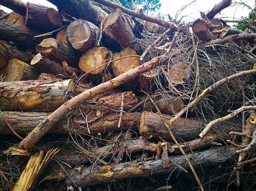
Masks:
[[[200,39],[204,41],[211,40],[213,38],[212,33],[208,28],[211,27],[211,22],[205,19],[197,19],[192,24],[193,33]]]

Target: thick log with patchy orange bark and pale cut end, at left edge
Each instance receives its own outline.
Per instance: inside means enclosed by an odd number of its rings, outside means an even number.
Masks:
[[[65,102],[65,95],[74,85],[73,79],[61,81],[1,82],[0,107],[2,111],[56,110]]]

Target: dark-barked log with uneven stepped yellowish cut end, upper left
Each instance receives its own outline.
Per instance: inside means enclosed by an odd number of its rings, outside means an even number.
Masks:
[[[56,61],[66,61],[68,65],[77,66],[82,53],[76,51],[72,46],[68,46],[54,38],[44,39],[36,46],[36,51],[44,57]]]

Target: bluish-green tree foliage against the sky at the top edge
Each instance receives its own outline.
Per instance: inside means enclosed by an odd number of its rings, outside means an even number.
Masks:
[[[142,8],[145,14],[153,14],[161,7],[159,0],[119,0],[119,2],[130,10],[139,10]]]

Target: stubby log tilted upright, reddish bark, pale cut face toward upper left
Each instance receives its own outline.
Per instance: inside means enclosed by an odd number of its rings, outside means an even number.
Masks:
[[[127,48],[135,39],[125,16],[120,9],[112,11],[104,21],[103,31],[109,36],[113,36],[121,47]]]

